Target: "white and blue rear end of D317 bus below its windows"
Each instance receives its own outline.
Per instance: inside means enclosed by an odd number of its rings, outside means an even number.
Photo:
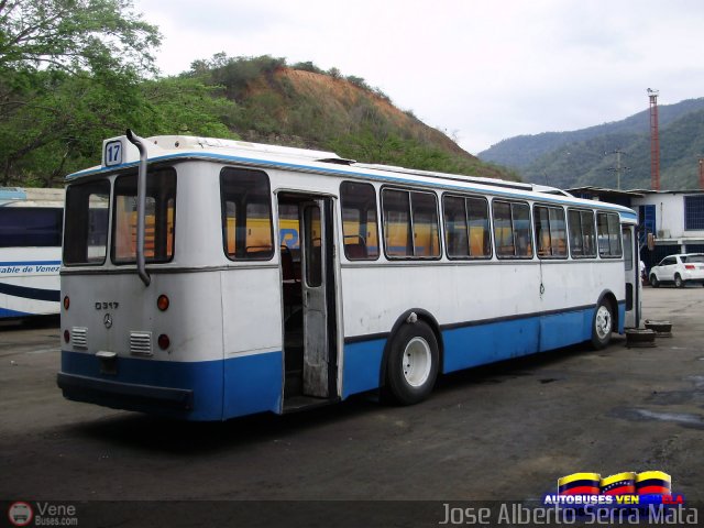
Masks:
[[[152,274],[150,288],[132,273],[65,273],[62,295],[70,306],[62,309],[62,327],[69,332],[69,342],[62,343],[64,394],[114,407],[119,405],[111,403],[122,394],[133,410],[221,419],[221,300],[219,294],[212,295],[219,290],[219,273]],[[169,298],[166,311],[157,308],[162,294]],[[166,350],[158,344],[162,334],[169,339]],[[176,404],[168,398],[173,391],[190,392],[188,402],[173,408]]]

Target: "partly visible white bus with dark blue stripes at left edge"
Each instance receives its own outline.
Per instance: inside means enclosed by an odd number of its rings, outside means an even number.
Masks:
[[[0,319],[57,316],[64,189],[0,187]]]

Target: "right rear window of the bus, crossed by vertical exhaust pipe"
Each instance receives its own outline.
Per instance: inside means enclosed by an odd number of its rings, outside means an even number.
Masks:
[[[120,176],[114,182],[112,262],[136,262],[136,174]],[[176,218],[176,172],[173,168],[151,170],[146,176],[144,222],[144,258],[164,263],[174,257],[174,222]]]

